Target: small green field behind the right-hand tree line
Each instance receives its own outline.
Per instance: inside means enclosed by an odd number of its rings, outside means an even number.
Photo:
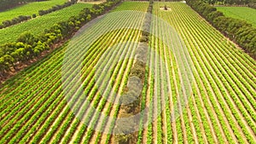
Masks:
[[[225,16],[246,20],[247,23],[256,27],[256,9],[247,7],[216,7],[218,11],[224,13]]]

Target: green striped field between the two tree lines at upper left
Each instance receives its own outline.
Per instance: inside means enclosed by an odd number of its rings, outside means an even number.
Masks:
[[[36,19],[1,29],[0,44],[15,42],[22,32],[32,32],[35,35],[39,35],[44,32],[44,29],[47,29],[60,21],[68,20],[69,17],[79,14],[82,9],[90,8],[91,6],[92,4],[76,3],[70,7],[37,17]]]

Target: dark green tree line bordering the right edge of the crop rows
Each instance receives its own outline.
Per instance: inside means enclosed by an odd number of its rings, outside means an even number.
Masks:
[[[256,28],[244,20],[225,17],[222,12],[200,0],[187,0],[192,9],[208,20],[224,36],[237,43],[254,59],[256,58]]]

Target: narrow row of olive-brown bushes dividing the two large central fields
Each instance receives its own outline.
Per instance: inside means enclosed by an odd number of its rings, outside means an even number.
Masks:
[[[140,43],[136,50],[137,59],[131,71],[129,73],[129,79],[127,82],[127,89],[129,91],[124,91],[124,94],[120,97],[120,106],[119,115],[120,117],[131,117],[136,115],[140,109],[142,101],[142,91],[139,89],[143,84],[147,84],[146,75],[146,61],[148,56],[148,41],[150,38],[150,26],[152,20],[152,10],[153,10],[153,0],[149,0],[147,13],[143,21],[143,32],[140,37]],[[143,88],[141,88],[143,89]],[[130,102],[132,101],[132,102]],[[137,118],[124,120],[121,122],[122,127],[117,127],[114,129],[115,132],[119,135],[114,136],[114,142],[119,144],[130,144],[136,143],[137,141],[137,132],[131,134],[126,134],[126,132],[132,132],[136,130],[137,127]]]

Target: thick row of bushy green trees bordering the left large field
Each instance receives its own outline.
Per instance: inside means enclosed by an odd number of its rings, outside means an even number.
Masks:
[[[94,4],[91,9],[83,9],[79,15],[72,16],[69,20],[61,21],[44,33],[36,37],[30,32],[20,35],[15,43],[0,45],[0,76],[9,72],[11,67],[15,68],[18,62],[31,60],[40,55],[44,50],[50,49],[55,43],[71,37],[80,27],[96,16],[117,5],[120,0],[108,0],[107,2]]]

